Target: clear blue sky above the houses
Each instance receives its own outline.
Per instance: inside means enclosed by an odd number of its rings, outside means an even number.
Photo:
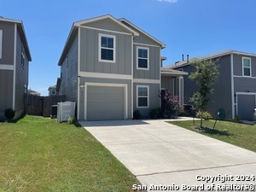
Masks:
[[[29,85],[48,95],[73,22],[101,15],[125,17],[166,44],[164,66],[182,54],[224,49],[256,53],[255,0],[0,0],[0,15],[22,20],[32,54]]]

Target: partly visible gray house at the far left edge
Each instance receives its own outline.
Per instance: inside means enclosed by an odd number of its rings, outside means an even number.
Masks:
[[[26,111],[29,61],[22,21],[0,17],[0,116],[7,108],[15,110],[15,118]]]

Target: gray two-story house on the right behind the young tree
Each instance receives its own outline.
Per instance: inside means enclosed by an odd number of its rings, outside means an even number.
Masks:
[[[227,119],[234,119],[236,115],[240,115],[241,119],[252,119],[253,108],[256,108],[256,54],[225,50],[201,59],[219,59],[220,76],[213,86],[213,102],[208,105],[212,115],[224,109]],[[195,67],[187,61],[169,67],[188,73],[195,71]],[[184,77],[183,81],[184,104],[190,104],[189,97],[197,90],[197,85],[188,77]]]

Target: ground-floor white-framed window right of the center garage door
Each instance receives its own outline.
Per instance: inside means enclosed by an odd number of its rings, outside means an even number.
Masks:
[[[149,86],[137,85],[137,108],[149,107]]]

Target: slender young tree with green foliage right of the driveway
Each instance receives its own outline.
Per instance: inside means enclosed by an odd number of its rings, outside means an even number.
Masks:
[[[218,61],[218,60],[217,60]],[[195,104],[195,108],[201,113],[201,127],[202,127],[202,114],[207,110],[208,102],[211,101],[209,95],[213,93],[212,85],[218,81],[218,65],[217,61],[194,59],[192,65],[195,67],[195,72],[190,73],[189,79],[195,81],[199,86],[189,102]]]

